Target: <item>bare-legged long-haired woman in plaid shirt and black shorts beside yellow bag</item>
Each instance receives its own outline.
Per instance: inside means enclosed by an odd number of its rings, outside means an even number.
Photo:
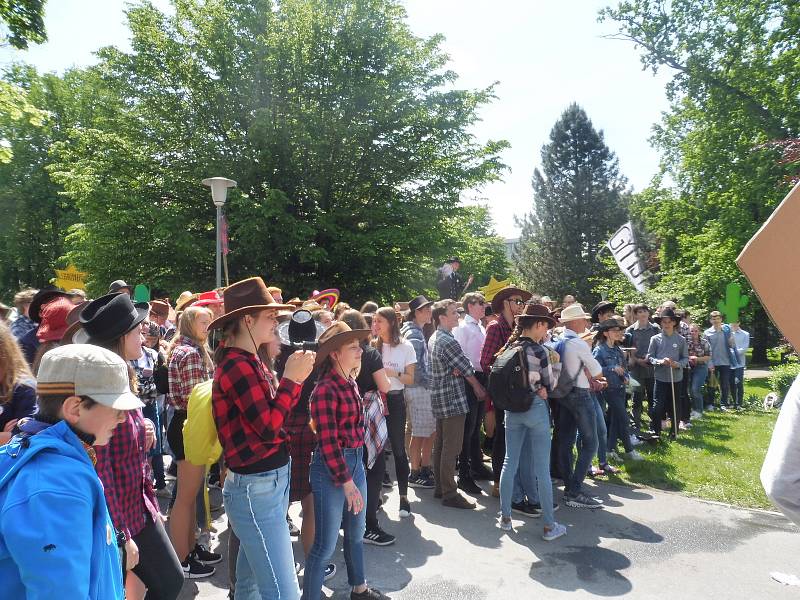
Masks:
[[[205,465],[186,460],[183,424],[186,422],[189,394],[198,383],[211,379],[213,365],[208,350],[208,325],[211,310],[190,306],[181,314],[175,337],[167,350],[169,392],[167,402],[174,413],[167,427],[167,441],[178,463],[175,503],[169,513],[169,536],[187,579],[210,577],[222,556],[197,543],[197,498],[205,482]]]

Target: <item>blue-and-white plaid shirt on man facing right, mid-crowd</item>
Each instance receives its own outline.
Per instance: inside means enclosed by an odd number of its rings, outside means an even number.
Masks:
[[[437,419],[469,412],[464,377],[475,372],[453,334],[441,327],[428,340],[431,361],[431,408]],[[453,375],[458,369],[462,377]]]

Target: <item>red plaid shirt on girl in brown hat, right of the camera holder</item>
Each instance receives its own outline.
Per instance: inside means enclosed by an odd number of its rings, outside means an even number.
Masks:
[[[311,417],[317,425],[317,442],[333,482],[347,483],[353,477],[342,448],[364,445],[364,411],[356,382],[328,371],[311,392]]]

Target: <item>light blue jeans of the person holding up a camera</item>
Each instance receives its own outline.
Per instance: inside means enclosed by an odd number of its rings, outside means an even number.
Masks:
[[[292,540],[286,527],[291,464],[242,475],[230,471],[222,499],[239,538],[236,600],[297,600]]]

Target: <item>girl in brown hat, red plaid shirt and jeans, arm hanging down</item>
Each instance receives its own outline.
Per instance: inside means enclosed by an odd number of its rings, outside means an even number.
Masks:
[[[367,587],[364,576],[364,411],[355,377],[363,352],[360,341],[368,335],[366,329],[353,330],[338,321],[319,338],[316,366],[320,375],[311,394],[318,439],[311,459],[316,535],[306,562],[304,600],[320,597],[325,565],[336,549],[340,527],[351,600],[387,598]]]

